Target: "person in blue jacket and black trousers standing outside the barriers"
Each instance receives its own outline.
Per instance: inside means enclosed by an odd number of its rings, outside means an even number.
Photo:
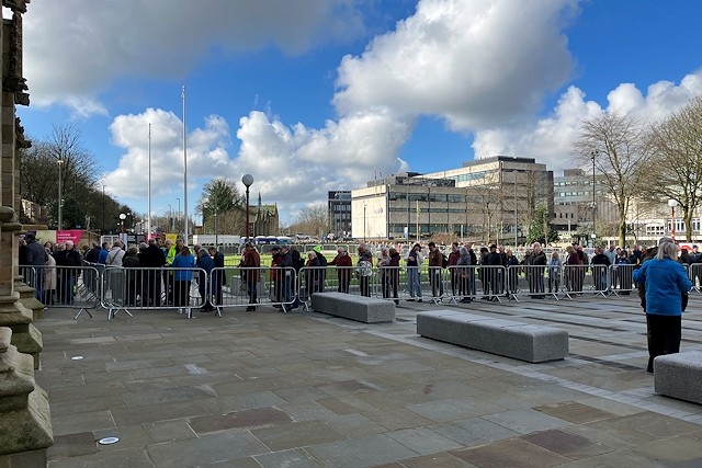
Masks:
[[[678,246],[664,242],[656,258],[634,272],[634,281],[646,288],[646,324],[648,329],[648,367],[663,354],[680,352],[682,334],[682,295],[692,288],[684,267],[678,263]]]

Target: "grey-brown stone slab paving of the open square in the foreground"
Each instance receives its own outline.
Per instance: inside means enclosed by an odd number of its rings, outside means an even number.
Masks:
[[[440,306],[566,329],[570,357],[539,365],[420,338],[437,306],[400,306],[386,324],[49,309],[49,467],[702,466],[702,406],[654,393],[636,296]],[[702,295],[689,310],[702,350]]]

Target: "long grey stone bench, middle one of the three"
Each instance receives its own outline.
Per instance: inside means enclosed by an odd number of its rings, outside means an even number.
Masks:
[[[529,363],[568,356],[568,332],[565,330],[453,310],[417,313],[417,333]]]

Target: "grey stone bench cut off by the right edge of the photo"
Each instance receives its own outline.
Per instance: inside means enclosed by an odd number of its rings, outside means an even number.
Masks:
[[[702,351],[656,357],[654,390],[666,397],[702,404]]]

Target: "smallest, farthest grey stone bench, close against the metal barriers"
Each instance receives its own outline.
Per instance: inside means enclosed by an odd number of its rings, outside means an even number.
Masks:
[[[312,308],[364,323],[392,322],[395,320],[395,303],[346,293],[315,293]]]

